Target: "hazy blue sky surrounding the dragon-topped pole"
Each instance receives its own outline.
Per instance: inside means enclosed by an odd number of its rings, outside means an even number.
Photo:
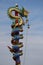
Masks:
[[[43,65],[43,0],[0,0],[0,65],[14,65],[12,54],[7,48],[8,45],[12,46],[12,20],[8,17],[7,10],[16,3],[20,8],[23,6],[30,11],[30,29],[27,32],[27,28],[24,30],[24,55],[21,62],[23,65]]]

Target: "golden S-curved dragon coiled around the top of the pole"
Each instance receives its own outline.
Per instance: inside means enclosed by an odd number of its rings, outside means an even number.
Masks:
[[[10,18],[12,18],[12,19],[20,19],[20,22],[18,22],[17,24],[15,24],[15,27],[18,26],[18,25],[19,26],[23,25],[24,21],[23,21],[23,18],[21,16],[14,16],[14,15],[12,15],[12,11],[17,11],[23,17],[27,17],[28,16],[28,12],[26,10],[23,11],[23,9],[19,10],[19,9],[17,9],[15,7],[11,7],[11,8],[8,9],[8,15],[9,15]]]

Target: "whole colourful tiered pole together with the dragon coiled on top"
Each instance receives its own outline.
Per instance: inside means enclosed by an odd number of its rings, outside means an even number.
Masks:
[[[20,42],[19,39],[23,39],[23,34],[20,34],[19,32],[23,32],[23,25],[25,25],[23,17],[27,18],[28,13],[29,12],[25,10],[23,7],[22,9],[19,9],[17,4],[15,7],[11,7],[8,9],[8,16],[12,20],[14,20],[14,22],[11,25],[12,48],[10,46],[8,46],[8,48],[10,52],[13,54],[12,58],[15,61],[16,65],[21,65],[20,56],[23,55],[23,51],[20,50],[20,48],[23,47],[23,42]]]

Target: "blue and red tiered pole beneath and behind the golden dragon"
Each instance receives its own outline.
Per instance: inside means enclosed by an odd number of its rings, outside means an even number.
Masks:
[[[18,7],[16,5],[16,7]],[[15,16],[18,16],[18,12],[15,11]],[[15,24],[17,24],[19,22],[18,19],[15,20]],[[15,60],[16,62],[16,65],[19,65],[20,64],[20,56],[23,55],[23,52],[22,50],[20,50],[21,47],[23,47],[23,43],[22,42],[19,42],[19,39],[23,39],[23,34],[19,34],[19,32],[23,32],[23,29],[22,29],[22,25],[19,26],[17,25],[15,28],[14,28],[14,23],[12,24],[12,33],[11,33],[11,36],[13,37],[12,39],[12,48],[14,49],[14,52],[13,52],[13,60]]]

